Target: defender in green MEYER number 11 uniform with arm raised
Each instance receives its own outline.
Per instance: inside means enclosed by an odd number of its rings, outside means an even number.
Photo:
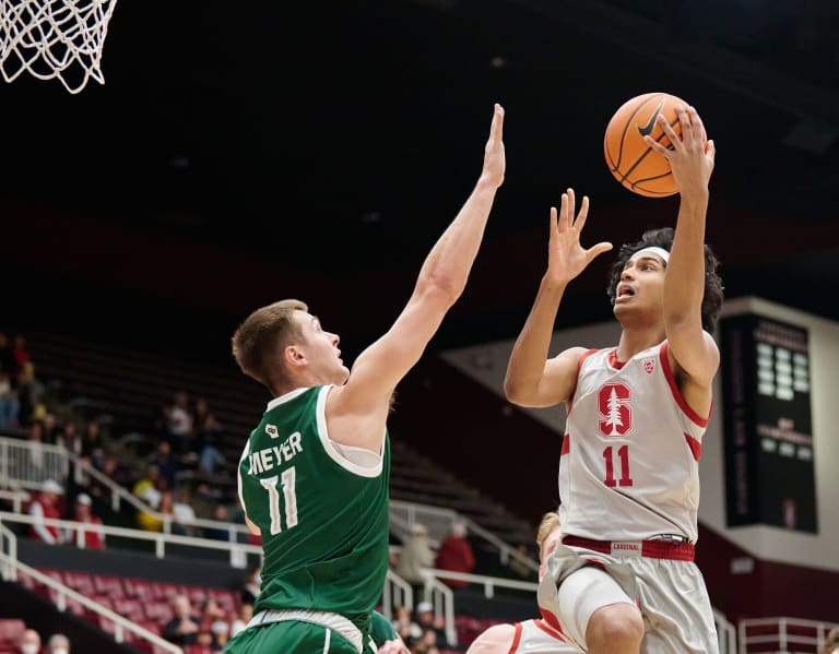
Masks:
[[[397,384],[460,297],[504,181],[495,106],[481,176],[432,248],[413,295],[352,372],[336,334],[298,300],[251,313],[233,336],[241,370],[273,396],[239,462],[239,499],[260,534],[262,587],[225,652],[361,654],[388,569],[386,419]]]

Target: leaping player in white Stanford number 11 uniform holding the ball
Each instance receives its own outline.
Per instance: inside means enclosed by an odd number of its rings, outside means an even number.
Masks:
[[[548,264],[510,356],[505,391],[522,406],[566,403],[559,464],[563,543],[540,584],[543,615],[590,654],[718,652],[713,616],[693,562],[698,460],[720,355],[711,336],[722,304],[717,260],[704,245],[714,145],[693,107],[682,136],[664,120],[664,156],[678,186],[675,233],[624,246],[610,296],[616,347],[571,347],[547,358],[568,283],[612,248],[580,245],[589,202],[551,210]]]

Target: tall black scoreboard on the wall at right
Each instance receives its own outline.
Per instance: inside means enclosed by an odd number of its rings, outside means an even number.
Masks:
[[[818,533],[807,331],[731,316],[720,346],[728,525]]]

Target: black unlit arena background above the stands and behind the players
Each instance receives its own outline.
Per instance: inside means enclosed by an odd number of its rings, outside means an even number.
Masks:
[[[122,0],[104,86],[0,86],[4,305],[228,362],[261,304],[299,297],[357,354],[407,299],[507,110],[507,178],[432,349],[512,337],[544,269],[548,207],[589,194],[586,241],[672,225],[634,195],[605,124],[649,91],[717,143],[708,241],[729,297],[839,319],[839,8],[772,0]],[[610,255],[563,324],[607,320]]]

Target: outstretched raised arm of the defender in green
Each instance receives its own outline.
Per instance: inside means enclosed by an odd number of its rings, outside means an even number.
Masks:
[[[333,440],[377,452],[381,449],[390,397],[463,293],[477,255],[496,191],[504,181],[503,127],[504,109],[495,105],[483,170],[472,193],[428,253],[393,326],[358,356],[347,382],[330,393],[327,413]],[[373,429],[378,424],[382,429]]]

